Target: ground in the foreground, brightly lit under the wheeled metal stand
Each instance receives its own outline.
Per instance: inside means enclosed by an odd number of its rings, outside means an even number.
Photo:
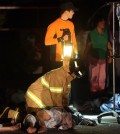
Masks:
[[[97,115],[84,115],[86,118],[95,119]],[[47,134],[120,134],[120,124],[117,123],[115,117],[103,117],[101,123],[97,122],[97,126],[82,126],[78,125],[73,130],[58,131],[56,129],[48,130]],[[23,131],[4,132],[1,134],[26,134]]]

